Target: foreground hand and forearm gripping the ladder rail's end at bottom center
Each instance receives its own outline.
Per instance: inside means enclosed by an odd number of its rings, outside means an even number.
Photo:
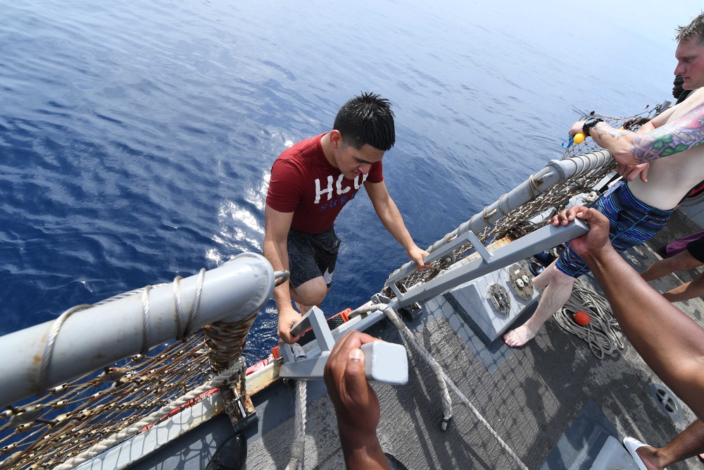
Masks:
[[[348,470],[389,469],[377,438],[381,416],[377,394],[364,375],[360,346],[378,341],[351,331],[339,339],[325,364],[325,385],[337,414],[342,453]]]

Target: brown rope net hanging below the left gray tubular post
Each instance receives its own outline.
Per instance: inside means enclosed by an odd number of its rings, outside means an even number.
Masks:
[[[145,355],[137,354],[51,388],[35,400],[8,407],[0,414],[0,469],[54,468],[88,452],[101,440],[112,436],[114,442],[115,434],[163,407],[172,405],[176,409],[120,441],[148,431],[213,395],[218,388],[184,399],[239,358],[255,317],[256,314],[237,323],[213,323],[184,340],[153,347]],[[234,377],[235,382],[237,379]],[[220,391],[225,410],[231,414],[241,409],[233,401],[246,392],[244,369],[239,383],[225,385]],[[233,393],[232,388],[237,385],[239,393]],[[228,400],[228,396],[234,400]]]

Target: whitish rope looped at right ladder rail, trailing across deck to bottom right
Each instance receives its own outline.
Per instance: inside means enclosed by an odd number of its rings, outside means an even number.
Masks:
[[[381,310],[384,312],[384,315],[386,315],[386,318],[388,318],[391,323],[396,326],[399,332],[401,332],[401,337],[403,338],[404,342],[406,342],[409,345],[412,345],[413,348],[420,353],[420,355],[428,362],[430,365],[431,369],[433,369],[436,380],[438,382],[438,385],[441,389],[441,395],[442,395],[442,400],[443,400],[443,409],[444,409],[444,419],[443,423],[444,426],[446,426],[447,422],[449,419],[452,417],[452,400],[450,398],[450,394],[447,389],[447,385],[452,388],[453,392],[457,394],[458,397],[460,397],[460,400],[470,409],[472,414],[477,417],[480,423],[484,425],[487,431],[491,435],[494,436],[496,441],[503,447],[503,450],[506,451],[510,455],[510,457],[513,459],[513,461],[517,464],[518,468],[522,470],[528,470],[528,467],[521,461],[520,457],[517,456],[515,452],[513,452],[513,449],[508,447],[508,444],[504,442],[504,440],[501,438],[500,435],[496,431],[494,431],[494,428],[491,427],[491,424],[489,424],[489,421],[486,421],[484,419],[484,416],[482,416],[479,411],[474,408],[474,405],[470,402],[470,400],[465,397],[465,395],[460,392],[460,389],[455,385],[455,383],[452,381],[452,379],[443,371],[442,367],[440,364],[437,363],[437,361],[432,357],[432,354],[428,352],[428,350],[423,347],[420,342],[418,342],[415,338],[415,335],[408,329],[406,326],[406,323],[403,323],[401,318],[396,314],[396,311],[394,311],[391,306],[386,305],[386,304],[370,304],[366,305],[363,307],[360,307],[349,314],[350,316],[356,316],[356,314],[362,314],[367,311],[372,311],[372,310]]]

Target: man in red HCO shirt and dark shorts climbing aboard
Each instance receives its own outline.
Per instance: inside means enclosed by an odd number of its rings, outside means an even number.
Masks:
[[[319,305],[330,289],[340,240],[334,221],[364,186],[386,230],[406,249],[418,268],[429,268],[428,255],[410,237],[401,213],[386,190],[384,152],[394,146],[394,113],[388,100],[363,93],[337,113],[333,130],[298,142],[271,168],[264,210],[264,256],[275,271],[291,272],[274,290],[279,338],[289,344],[291,326]]]

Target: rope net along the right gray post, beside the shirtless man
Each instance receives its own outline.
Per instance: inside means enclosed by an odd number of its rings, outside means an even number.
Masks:
[[[658,105],[653,111],[657,112],[659,109],[660,106]],[[642,118],[648,113],[648,111],[643,111],[643,113],[638,113],[633,116],[613,117],[592,112],[588,116],[582,116],[581,119],[601,118],[605,123],[614,128],[627,128],[635,131],[640,128],[643,122],[647,122],[647,120],[643,121]],[[584,155],[599,149],[600,147],[588,137],[581,144],[572,144],[565,149],[565,154],[562,156],[562,159]],[[503,243],[510,242],[524,235],[528,235],[542,228],[548,218],[557,214],[562,209],[565,209],[570,199],[573,197],[579,194],[593,193],[592,198],[596,199],[596,192],[593,192],[593,187],[598,185],[604,178],[611,175],[615,168],[616,162],[611,159],[602,166],[594,168],[592,171],[567,179],[563,183],[558,183],[526,204],[510,211],[506,216],[496,221],[496,223],[488,225],[483,230],[480,230],[479,233],[475,233],[475,235],[477,235],[479,241],[484,245],[488,245],[494,241]],[[446,239],[448,239],[449,235],[450,234],[446,235]],[[452,264],[475,253],[476,251],[472,244],[467,242],[455,249],[452,256],[444,256],[434,261],[431,268],[420,272],[414,271],[405,278],[396,281],[396,287],[398,287],[400,292],[406,292],[410,287],[413,287],[413,285],[431,280]],[[394,292],[389,286],[383,290],[383,293],[388,297],[395,297]]]

